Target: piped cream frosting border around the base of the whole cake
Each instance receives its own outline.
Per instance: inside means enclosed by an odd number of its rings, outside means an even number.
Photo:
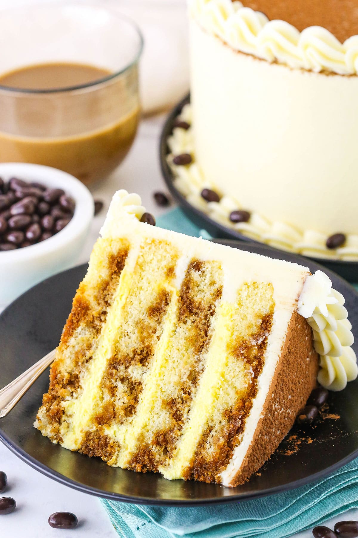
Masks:
[[[192,124],[192,109],[190,104],[186,104],[180,115],[180,121]],[[170,154],[167,155],[167,162],[174,175],[174,186],[185,196],[187,201],[194,207],[206,213],[213,220],[243,233],[251,239],[258,240],[278,249],[288,252],[296,252],[302,256],[312,258],[331,258],[345,261],[358,260],[358,235],[348,234],[345,244],[337,249],[327,249],[326,241],[328,236],[316,230],[298,230],[288,223],[278,221],[268,221],[264,216],[251,211],[249,222],[230,221],[231,211],[250,208],[242,208],[239,200],[221,192],[220,187],[213,185],[195,162],[195,143],[193,127],[188,129],[175,127],[173,133],[167,139]],[[186,166],[174,164],[173,158],[182,153],[192,155],[193,161]],[[213,189],[221,195],[219,202],[207,202],[201,196],[204,188]]]

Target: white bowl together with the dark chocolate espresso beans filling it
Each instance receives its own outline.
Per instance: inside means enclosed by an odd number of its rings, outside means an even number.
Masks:
[[[0,307],[76,263],[93,212],[91,193],[74,176],[0,164]]]

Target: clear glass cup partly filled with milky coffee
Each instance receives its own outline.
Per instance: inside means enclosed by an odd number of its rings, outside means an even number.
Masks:
[[[84,183],[125,158],[140,115],[141,32],[111,3],[56,2],[0,17],[0,162],[53,166]],[[106,70],[89,83],[21,89],[2,84],[26,66],[76,63]],[[5,80],[5,79],[4,79]]]

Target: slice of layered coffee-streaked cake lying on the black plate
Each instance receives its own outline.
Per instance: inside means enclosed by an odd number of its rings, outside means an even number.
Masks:
[[[35,427],[108,465],[235,486],[288,433],[319,360],[326,386],[355,378],[344,299],[323,273],[143,213],[114,195]]]

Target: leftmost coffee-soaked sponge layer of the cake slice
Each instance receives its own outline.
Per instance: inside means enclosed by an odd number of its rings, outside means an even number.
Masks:
[[[62,332],[50,373],[49,392],[43,397],[36,419],[37,427],[54,442],[62,443],[71,426],[63,404],[83,392],[83,377],[98,352],[101,330],[128,250],[128,242],[122,239],[101,239],[94,245],[89,270],[79,285]]]

